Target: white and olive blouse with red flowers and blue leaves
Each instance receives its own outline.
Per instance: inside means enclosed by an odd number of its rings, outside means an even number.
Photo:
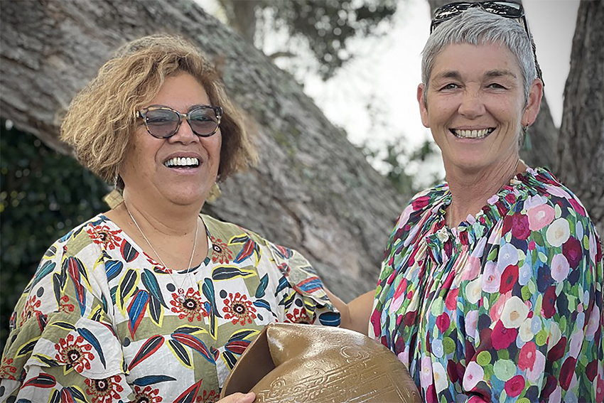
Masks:
[[[340,323],[298,252],[202,219],[207,257],[181,272],[104,215],[55,242],[11,318],[0,401],[215,402],[266,324]]]

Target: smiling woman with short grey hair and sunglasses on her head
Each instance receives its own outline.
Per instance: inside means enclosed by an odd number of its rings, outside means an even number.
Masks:
[[[543,82],[522,6],[436,10],[417,100],[446,182],[414,196],[377,289],[336,303],[426,402],[603,402],[600,239],[575,195],[519,158]]]

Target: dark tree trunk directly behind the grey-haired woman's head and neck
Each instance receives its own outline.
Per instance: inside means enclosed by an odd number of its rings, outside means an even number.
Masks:
[[[453,0],[428,0],[430,4],[430,12],[433,15],[434,10],[445,4],[451,3]],[[520,0],[515,0],[522,2]],[[530,21],[529,21],[530,23]],[[537,49],[539,55],[539,49]],[[549,106],[547,105],[544,94],[541,101],[541,110],[537,115],[534,124],[529,127],[527,139],[525,139],[523,149],[520,151],[520,157],[529,166],[544,166],[555,170],[558,166],[556,162],[556,144],[558,142],[558,129],[554,124],[554,119],[551,117]]]

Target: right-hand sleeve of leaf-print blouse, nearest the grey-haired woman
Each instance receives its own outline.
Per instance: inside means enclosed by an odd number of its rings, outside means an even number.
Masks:
[[[276,294],[282,308],[281,321],[339,326],[340,313],[308,260],[293,249],[265,242],[274,262],[273,269],[280,275]]]

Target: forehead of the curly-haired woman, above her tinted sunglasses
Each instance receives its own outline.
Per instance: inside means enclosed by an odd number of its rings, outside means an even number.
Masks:
[[[151,104],[165,105],[174,109],[196,104],[210,104],[203,85],[186,72],[166,77]]]

